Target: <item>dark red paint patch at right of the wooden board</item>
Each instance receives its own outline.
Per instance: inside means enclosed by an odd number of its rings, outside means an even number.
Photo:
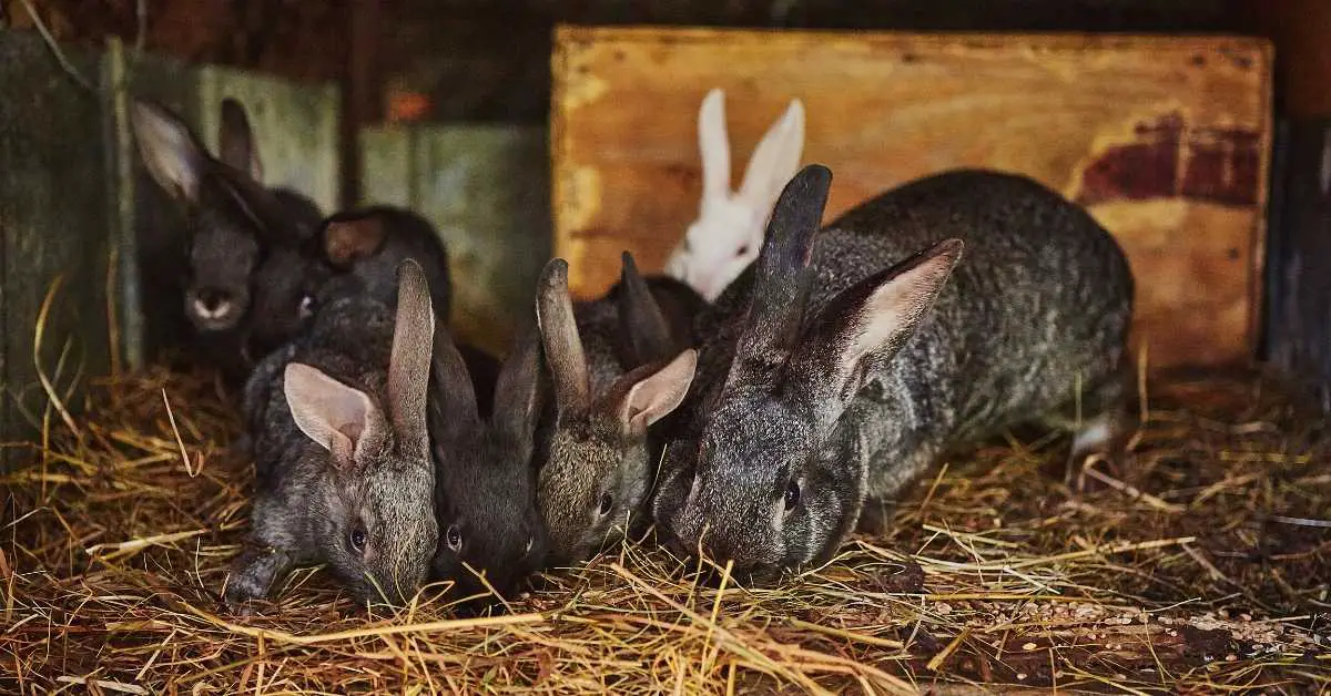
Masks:
[[[1190,198],[1256,205],[1260,137],[1242,128],[1191,128],[1170,113],[1138,124],[1134,141],[1113,145],[1082,172],[1082,205],[1107,201]]]

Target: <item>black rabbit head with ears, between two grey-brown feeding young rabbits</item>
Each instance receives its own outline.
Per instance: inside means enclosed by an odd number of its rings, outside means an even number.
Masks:
[[[488,419],[476,409],[473,385],[457,345],[438,325],[430,430],[441,532],[433,571],[465,608],[514,596],[544,562],[531,468],[542,403],[535,325],[518,335],[499,370]]]

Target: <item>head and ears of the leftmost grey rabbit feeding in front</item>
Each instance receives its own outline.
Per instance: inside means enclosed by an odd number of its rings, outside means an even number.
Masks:
[[[390,604],[425,582],[439,538],[426,423],[434,310],[421,267],[399,275],[386,405],[307,365],[284,375],[297,427],[327,451],[331,476],[309,518],[319,550],[359,599]]]

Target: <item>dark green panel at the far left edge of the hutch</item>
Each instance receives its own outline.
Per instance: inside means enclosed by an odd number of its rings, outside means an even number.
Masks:
[[[100,79],[98,56],[68,57]],[[0,426],[11,440],[59,418],[39,371],[71,407],[76,378],[106,371],[109,193],[101,97],[64,73],[37,35],[0,32]]]

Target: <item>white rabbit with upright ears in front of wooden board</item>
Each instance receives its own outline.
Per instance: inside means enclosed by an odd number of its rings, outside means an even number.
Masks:
[[[792,100],[753,149],[744,182],[732,193],[724,98],[720,89],[712,89],[699,109],[701,209],[666,265],[668,275],[693,286],[708,302],[757,257],[772,205],[795,176],[804,150],[804,104]]]

